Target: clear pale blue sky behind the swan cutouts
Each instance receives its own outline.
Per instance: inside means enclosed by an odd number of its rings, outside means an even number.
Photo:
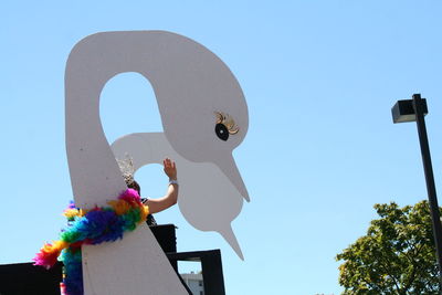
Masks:
[[[60,212],[72,199],[64,67],[72,46],[101,31],[187,35],[218,54],[243,87],[250,129],[234,156],[252,201],[233,228],[245,261],[218,234],[192,229],[178,209],[157,217],[179,226],[179,250],[221,249],[228,294],[338,294],[334,257],[366,232],[372,204],[427,198],[415,126],[391,122],[397,99],[428,98],[442,183],[440,1],[0,6],[0,263],[30,261],[64,224]],[[154,99],[135,74],[112,80],[102,99],[108,139],[161,130]],[[166,188],[159,166],[137,177],[150,196]]]

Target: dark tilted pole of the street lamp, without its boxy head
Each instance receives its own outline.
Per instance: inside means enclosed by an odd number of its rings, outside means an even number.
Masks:
[[[428,143],[425,119],[423,117],[422,99],[420,94],[413,94],[413,108],[415,112],[415,123],[418,124],[419,143],[421,145],[422,162],[425,173],[431,219],[433,221],[434,243],[439,262],[439,278],[440,281],[442,281],[442,225],[439,212],[438,197],[435,194],[433,168],[431,166],[430,147]]]

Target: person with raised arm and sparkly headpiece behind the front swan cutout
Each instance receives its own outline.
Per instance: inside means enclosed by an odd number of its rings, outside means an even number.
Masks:
[[[129,189],[135,189],[139,196],[141,196],[141,188],[134,179],[134,165],[131,158],[126,155],[124,160],[118,160],[119,168],[125,178],[126,186]],[[178,201],[178,181],[177,181],[177,166],[173,160],[166,158],[162,160],[164,171],[169,178],[169,185],[166,194],[158,199],[141,198],[144,204],[149,207],[149,214],[147,215],[148,225],[157,225],[157,222],[152,214],[161,212]]]

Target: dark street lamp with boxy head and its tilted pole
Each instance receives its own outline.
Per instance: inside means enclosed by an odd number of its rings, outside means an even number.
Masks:
[[[433,221],[433,235],[439,262],[439,278],[442,282],[442,225],[435,194],[433,168],[431,165],[430,147],[427,136],[424,115],[428,114],[427,101],[420,94],[413,94],[412,99],[398,101],[391,108],[393,123],[413,122],[418,125],[419,143],[421,146],[423,171],[425,173],[427,192]]]

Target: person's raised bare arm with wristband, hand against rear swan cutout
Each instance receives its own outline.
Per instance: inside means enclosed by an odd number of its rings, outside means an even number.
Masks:
[[[178,183],[177,181],[177,167],[175,161],[166,158],[162,161],[165,173],[169,177],[169,185],[166,194],[158,199],[148,199],[146,204],[149,207],[149,213],[154,214],[172,207],[178,201]]]

